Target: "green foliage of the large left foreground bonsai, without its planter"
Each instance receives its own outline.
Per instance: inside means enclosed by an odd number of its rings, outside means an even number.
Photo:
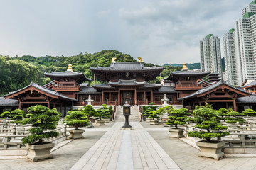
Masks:
[[[53,130],[58,125],[60,118],[55,108],[51,110],[46,106],[31,106],[26,116],[28,118],[24,119],[22,124],[32,124],[32,128],[29,130],[31,135],[22,138],[23,144],[39,145],[43,143],[43,139],[58,136],[58,132],[44,132],[44,130]]]

